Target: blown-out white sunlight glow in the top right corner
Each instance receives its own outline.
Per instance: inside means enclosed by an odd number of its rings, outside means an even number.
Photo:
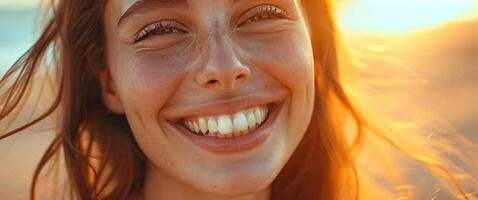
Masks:
[[[339,6],[345,32],[408,32],[477,13],[477,0],[349,0]]]

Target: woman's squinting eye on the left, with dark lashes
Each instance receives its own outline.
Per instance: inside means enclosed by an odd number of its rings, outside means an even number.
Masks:
[[[186,27],[178,21],[160,20],[144,27],[141,31],[139,31],[134,39],[134,42],[139,42],[154,35],[173,33],[188,33],[188,31],[186,31]]]

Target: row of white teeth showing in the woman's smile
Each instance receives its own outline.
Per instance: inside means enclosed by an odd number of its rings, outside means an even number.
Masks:
[[[266,106],[256,106],[234,114],[188,118],[183,124],[193,133],[211,137],[240,136],[261,125],[268,111]]]

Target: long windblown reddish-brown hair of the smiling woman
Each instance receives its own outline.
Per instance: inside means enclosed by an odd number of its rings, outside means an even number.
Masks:
[[[0,121],[5,122],[7,117],[15,118],[16,109],[28,98],[40,65],[52,60],[58,86],[52,104],[33,120],[13,130],[2,130],[5,132],[0,135],[4,139],[55,113],[60,116],[55,138],[36,167],[31,199],[38,198],[42,171],[48,163],[60,162],[55,159],[60,154],[71,199],[126,199],[142,188],[145,156],[125,116],[110,113],[103,104],[96,75],[106,66],[105,4],[105,0],[49,1],[51,19],[39,39],[0,81]],[[361,175],[356,162],[366,134],[375,135],[426,166],[438,167],[468,199],[447,168],[432,156],[417,155],[398,145],[374,128],[351,101],[340,77],[340,49],[330,6],[326,0],[301,0],[313,46],[315,104],[304,138],[272,183],[272,199],[363,197],[360,191],[365,189],[359,186],[364,185],[361,178],[365,175]],[[348,139],[343,125],[347,116],[354,122],[353,139]]]

